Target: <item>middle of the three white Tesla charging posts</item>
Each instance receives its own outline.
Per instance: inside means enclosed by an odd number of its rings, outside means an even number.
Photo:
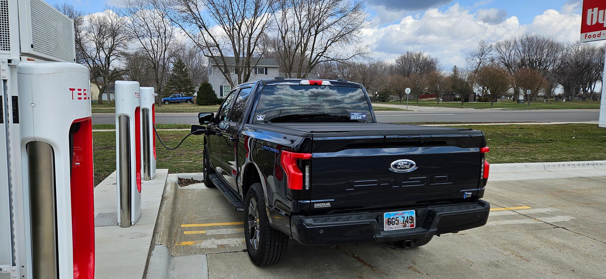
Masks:
[[[116,195],[118,225],[141,217],[141,97],[138,82],[118,80],[116,90]]]

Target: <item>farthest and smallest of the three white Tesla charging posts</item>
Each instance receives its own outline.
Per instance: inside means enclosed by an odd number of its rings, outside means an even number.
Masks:
[[[153,87],[142,87],[141,94],[141,159],[143,180],[156,177],[156,103]]]

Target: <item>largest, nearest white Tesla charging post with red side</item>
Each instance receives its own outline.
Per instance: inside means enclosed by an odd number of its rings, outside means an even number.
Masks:
[[[88,69],[67,62],[19,63],[17,73],[32,278],[94,278]]]

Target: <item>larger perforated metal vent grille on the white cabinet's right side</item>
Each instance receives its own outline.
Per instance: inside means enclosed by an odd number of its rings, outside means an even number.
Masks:
[[[73,22],[42,0],[31,0],[30,5],[33,51],[73,61]]]

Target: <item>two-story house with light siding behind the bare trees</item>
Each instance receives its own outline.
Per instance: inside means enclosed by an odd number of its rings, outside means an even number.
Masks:
[[[248,80],[271,79],[276,75],[279,75],[280,66],[278,65],[278,62],[276,62],[276,59],[258,57],[253,59],[257,60],[253,60],[251,65],[256,64],[257,66],[251,71],[250,79]],[[217,60],[220,63],[221,59]],[[235,57],[225,57],[225,60],[227,60],[228,68],[230,70],[231,80],[238,83]],[[219,98],[227,96],[231,90],[231,85],[227,82],[227,79],[225,79],[225,76],[222,74],[221,70],[219,70],[219,66],[215,64],[213,59],[208,59],[208,82],[213,86],[213,90]]]

